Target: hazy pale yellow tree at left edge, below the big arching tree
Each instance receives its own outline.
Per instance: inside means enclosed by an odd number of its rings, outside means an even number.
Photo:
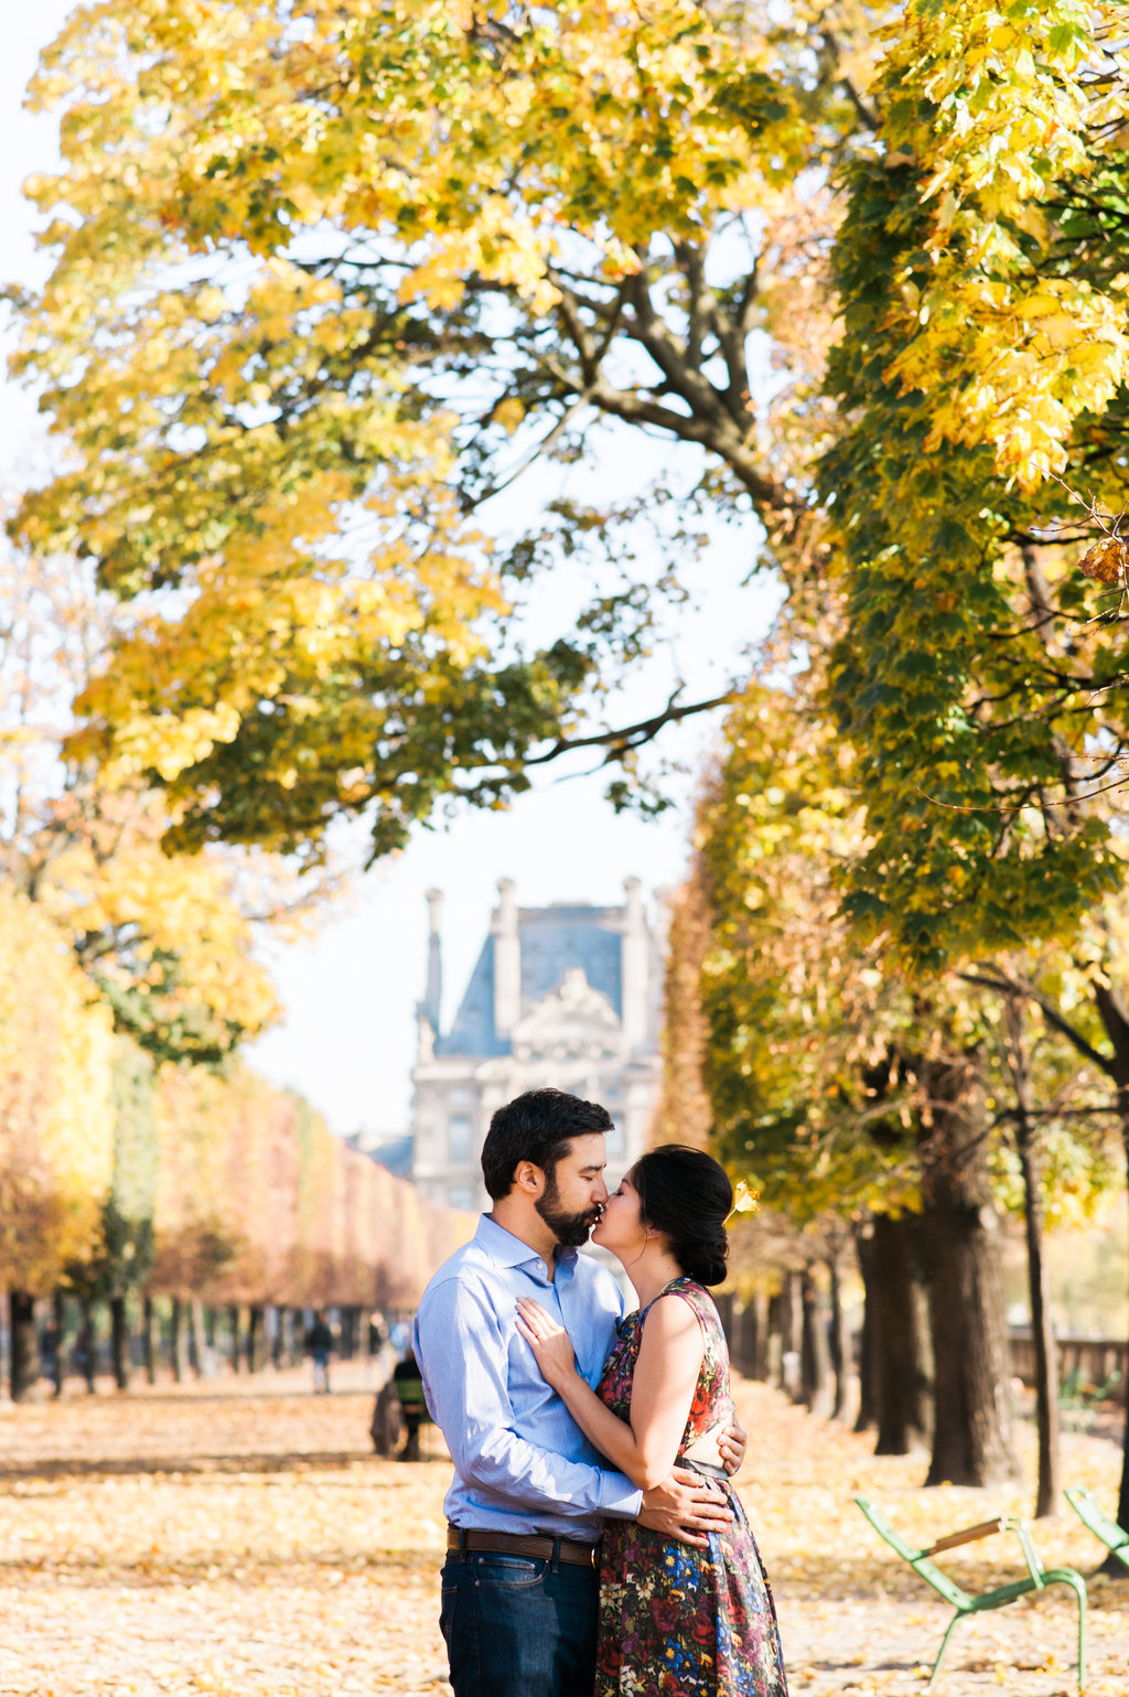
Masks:
[[[119,1032],[156,1061],[217,1064],[277,1013],[255,923],[297,893],[272,855],[170,855],[153,791],[65,760],[73,701],[105,664],[121,611],[73,560],[0,557],[0,874],[70,938]]]

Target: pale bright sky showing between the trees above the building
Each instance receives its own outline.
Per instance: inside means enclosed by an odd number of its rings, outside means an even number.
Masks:
[[[0,58],[0,280],[37,282],[44,260],[32,243],[31,207],[22,180],[56,161],[58,136],[49,115],[22,110],[22,93],[39,51],[70,14],[70,0],[39,0],[5,17]],[[10,348],[0,324],[0,355]],[[36,451],[34,397],[0,375],[0,482],[20,475]],[[654,472],[655,443],[609,448],[609,463],[591,473],[560,473],[572,496],[628,475]],[[528,519],[559,484],[531,473],[503,497],[491,518],[499,531]],[[679,609],[666,645],[623,696],[623,723],[662,706],[669,680],[681,675],[688,699],[718,694],[740,672],[740,650],[764,633],[776,592],[771,580],[745,585],[755,560],[752,526],[722,529],[689,575],[691,604]],[[657,575],[662,562],[652,558]],[[576,585],[547,585],[531,608],[540,631],[569,618]],[[312,940],[265,945],[285,1005],[285,1017],[248,1050],[250,1062],[278,1084],[301,1089],[341,1135],[357,1130],[401,1135],[407,1129],[414,1059],[414,1003],[423,993],[426,957],[424,891],[445,891],[445,1023],[470,974],[489,927],[499,877],[516,881],[521,905],[550,901],[616,903],[623,879],[647,889],[681,881],[691,828],[696,772],[718,735],[718,714],[689,720],[664,733],[660,752],[682,764],[672,786],[679,806],[657,821],[615,816],[603,799],[604,776],[594,760],[543,772],[530,794],[506,813],[462,811],[436,830],[418,830],[409,847],[353,881]],[[587,776],[586,776],[587,774]],[[350,833],[343,852],[355,857]]]

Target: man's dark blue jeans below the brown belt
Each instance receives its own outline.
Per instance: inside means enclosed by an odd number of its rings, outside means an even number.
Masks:
[[[440,1629],[455,1697],[593,1697],[598,1617],[594,1568],[448,1554]]]

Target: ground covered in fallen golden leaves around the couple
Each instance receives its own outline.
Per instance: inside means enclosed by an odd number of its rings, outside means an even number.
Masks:
[[[333,1397],[299,1375],[68,1397],[0,1410],[0,1694],[214,1692],[345,1697],[447,1690],[438,1636],[443,1490],[435,1432],[419,1465],[368,1453],[370,1393],[340,1369]],[[869,1439],[742,1385],[752,1432],[742,1497],[776,1587],[795,1697],[920,1692],[944,1604],[852,1507],[868,1492],[925,1543],[1017,1490],[918,1488],[924,1458],[876,1459]],[[1066,1478],[1112,1505],[1107,1437],[1064,1439]],[[1092,1575],[1100,1549],[1073,1515],[1036,1527],[1048,1565]],[[963,1583],[1017,1575],[1014,1539],[956,1551]],[[1129,1575],[1090,1585],[1088,1697],[1129,1692]],[[939,1697],[1073,1692],[1070,1593],[964,1622]]]

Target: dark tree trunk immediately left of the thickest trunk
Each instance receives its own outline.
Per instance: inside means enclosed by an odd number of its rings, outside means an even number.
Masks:
[[[874,1307],[873,1380],[876,1456],[908,1456],[929,1427],[927,1342],[917,1302],[917,1222],[874,1215],[871,1283]],[[868,1291],[868,1300],[869,1300]]]

